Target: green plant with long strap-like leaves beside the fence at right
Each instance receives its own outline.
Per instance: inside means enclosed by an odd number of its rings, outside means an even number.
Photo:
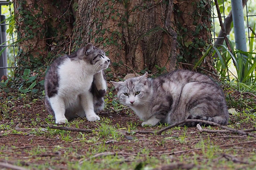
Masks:
[[[255,24],[253,32],[255,31]],[[240,51],[233,48],[234,42],[230,42],[231,51],[228,50],[226,45],[220,45],[218,48],[215,46],[208,46],[205,54],[195,64],[194,69],[201,65],[204,58],[209,54],[211,48],[214,49],[212,57],[215,60],[215,68],[221,76],[222,80],[230,80],[237,83],[245,83],[252,85],[256,83],[256,52],[253,52],[254,34],[251,34],[249,51]],[[235,68],[236,73],[231,71],[232,67]],[[233,78],[232,78],[233,77]]]

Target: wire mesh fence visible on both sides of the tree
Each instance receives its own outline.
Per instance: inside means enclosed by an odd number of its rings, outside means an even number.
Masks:
[[[251,39],[256,37],[253,32],[253,25],[256,23],[256,1],[255,0],[242,0],[244,6],[244,26],[246,29],[247,36],[247,46],[251,44]],[[224,37],[221,36],[221,28],[219,24],[218,14],[216,12],[216,7],[214,1],[212,3],[212,40],[213,43],[219,43],[219,41],[223,42]],[[224,27],[227,28],[227,32],[229,34],[229,39],[231,41],[235,41],[235,37],[233,34],[233,25],[232,25],[232,16],[231,13],[231,0],[218,0],[220,9],[221,9],[221,18],[224,23]],[[2,75],[10,75],[11,69],[15,68],[15,51],[17,51],[17,47],[15,48],[15,36],[13,34],[6,34],[6,30],[9,27],[8,23],[5,23],[5,18],[11,15],[12,10],[8,10],[8,13],[3,13],[3,8],[13,8],[9,2],[0,2],[0,50],[6,48],[6,50],[0,55],[0,78]],[[251,36],[253,35],[253,36]],[[256,39],[254,39],[255,41]],[[11,45],[10,45],[11,44]]]

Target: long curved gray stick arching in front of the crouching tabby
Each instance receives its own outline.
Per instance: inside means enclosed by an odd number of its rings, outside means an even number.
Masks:
[[[248,135],[248,136],[256,137],[256,135],[251,134],[251,133],[244,132],[244,131],[242,131],[242,130],[236,130],[236,129],[233,129],[233,128],[231,128],[231,127],[226,127],[226,126],[220,125],[220,124],[215,123],[215,122],[210,122],[210,121],[201,120],[201,119],[185,119],[185,120],[183,120],[183,121],[177,122],[177,123],[175,123],[175,124],[173,124],[173,125],[170,125],[170,126],[168,126],[168,127],[165,127],[165,128],[163,128],[163,129],[157,131],[156,134],[157,134],[157,135],[160,135],[163,131],[168,130],[168,129],[172,128],[172,127],[181,125],[181,124],[183,124],[183,123],[191,123],[191,122],[200,122],[200,123],[204,123],[204,124],[211,125],[211,126],[218,126],[218,127],[222,128],[222,129],[230,130],[231,132],[234,132],[234,133],[239,133],[239,134],[241,134],[241,135]]]

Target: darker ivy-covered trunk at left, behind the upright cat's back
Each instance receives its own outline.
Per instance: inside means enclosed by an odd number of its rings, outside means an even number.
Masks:
[[[72,33],[71,1],[14,0],[13,3],[20,41],[16,74],[22,74],[24,68],[45,68],[52,61],[49,52],[55,54]]]

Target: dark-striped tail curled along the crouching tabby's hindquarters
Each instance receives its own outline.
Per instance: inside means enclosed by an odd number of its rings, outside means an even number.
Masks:
[[[207,116],[195,116],[195,115],[190,115],[187,119],[201,119],[201,120],[207,120],[210,122],[215,122],[220,125],[227,125],[228,124],[228,116],[215,116],[215,117],[207,117]],[[188,122],[186,123],[186,126],[191,127],[191,126],[196,126],[197,124],[201,126],[208,126],[207,124],[204,124],[202,122]]]

